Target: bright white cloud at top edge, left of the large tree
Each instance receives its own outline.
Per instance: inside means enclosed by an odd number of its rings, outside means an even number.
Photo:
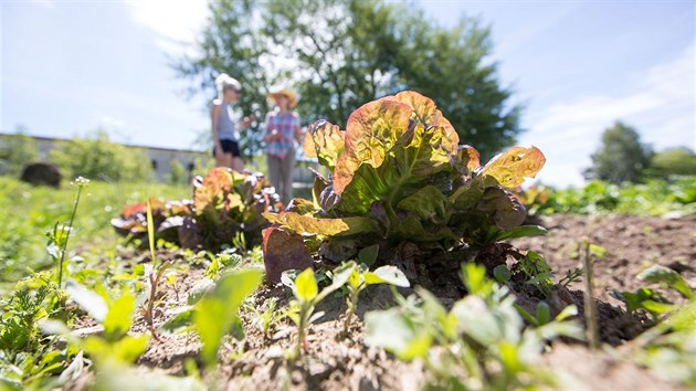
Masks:
[[[205,0],[128,1],[136,23],[157,34],[156,43],[168,53],[184,52],[208,17]]]

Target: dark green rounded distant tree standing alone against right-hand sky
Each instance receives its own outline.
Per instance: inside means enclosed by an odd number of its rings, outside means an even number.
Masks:
[[[592,167],[584,171],[584,176],[613,183],[637,182],[650,165],[651,156],[651,148],[641,144],[637,131],[616,121],[602,134],[602,145],[592,155]]]

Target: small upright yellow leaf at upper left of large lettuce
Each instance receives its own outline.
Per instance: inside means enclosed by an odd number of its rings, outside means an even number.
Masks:
[[[312,125],[305,134],[303,149],[308,158],[316,157],[319,163],[334,170],[345,148],[345,131],[325,119]]]

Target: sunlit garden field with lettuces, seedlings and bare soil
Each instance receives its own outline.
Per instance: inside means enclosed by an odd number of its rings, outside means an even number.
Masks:
[[[354,113],[365,161],[310,128],[334,176],[286,208],[223,168],[1,178],[0,390],[696,387],[693,180],[514,193],[540,150],[482,165],[432,101],[392,99]]]

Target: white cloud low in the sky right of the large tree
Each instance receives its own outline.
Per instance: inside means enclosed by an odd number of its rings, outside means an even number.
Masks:
[[[656,149],[688,146],[696,149],[694,46],[632,78],[626,94],[591,95],[560,102],[532,116],[521,141],[537,145],[547,163],[539,179],[581,184],[583,168],[598,148],[604,128],[615,120],[634,126],[642,140]]]

